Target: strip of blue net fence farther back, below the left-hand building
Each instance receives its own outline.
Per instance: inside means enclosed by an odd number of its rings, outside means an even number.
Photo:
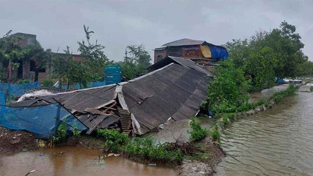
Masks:
[[[28,90],[31,88],[41,87],[39,82],[32,82],[28,84],[8,84],[8,83],[0,83],[0,92],[5,93],[8,90],[8,96],[22,96],[24,90]]]

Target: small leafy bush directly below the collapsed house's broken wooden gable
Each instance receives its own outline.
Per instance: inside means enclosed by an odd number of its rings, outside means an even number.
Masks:
[[[110,152],[118,152],[130,142],[126,135],[115,130],[98,129],[97,133],[105,142],[103,147]]]

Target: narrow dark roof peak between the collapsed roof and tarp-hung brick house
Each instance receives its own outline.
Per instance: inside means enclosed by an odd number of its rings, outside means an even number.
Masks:
[[[167,66],[171,63],[179,64],[181,66],[186,66],[198,71],[201,71],[203,73],[208,74],[211,76],[211,72],[203,68],[202,66],[199,66],[195,62],[191,61],[190,59],[180,58],[180,57],[173,57],[173,56],[167,56],[166,58],[162,59],[161,61],[153,64],[152,66],[149,66],[147,69],[149,72],[154,71],[156,69],[159,69],[163,66]]]

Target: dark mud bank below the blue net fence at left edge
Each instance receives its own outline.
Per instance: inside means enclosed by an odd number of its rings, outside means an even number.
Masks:
[[[0,155],[37,149],[37,141],[30,132],[13,131],[0,126]]]

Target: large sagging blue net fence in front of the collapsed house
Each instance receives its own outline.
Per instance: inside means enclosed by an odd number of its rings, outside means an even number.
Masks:
[[[33,132],[38,137],[51,138],[64,121],[67,123],[67,131],[72,131],[75,124],[77,124],[78,130],[88,130],[84,124],[58,103],[39,107],[0,105],[0,125],[11,130]]]

